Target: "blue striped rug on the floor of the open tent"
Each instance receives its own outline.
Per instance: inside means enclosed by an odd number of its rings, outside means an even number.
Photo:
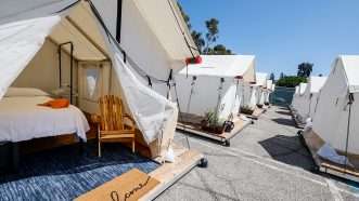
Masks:
[[[159,165],[117,144],[105,144],[102,158],[95,151],[87,144],[82,152],[66,146],[23,157],[18,173],[0,175],[0,200],[73,200],[131,169]]]

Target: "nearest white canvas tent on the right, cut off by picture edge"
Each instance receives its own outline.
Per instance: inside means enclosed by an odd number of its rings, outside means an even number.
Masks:
[[[312,131],[337,150],[359,155],[359,56],[338,56],[322,86]]]

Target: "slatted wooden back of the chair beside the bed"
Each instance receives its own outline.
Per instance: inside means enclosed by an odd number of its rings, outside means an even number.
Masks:
[[[99,98],[101,112],[101,131],[124,130],[123,102],[114,95],[105,95]]]

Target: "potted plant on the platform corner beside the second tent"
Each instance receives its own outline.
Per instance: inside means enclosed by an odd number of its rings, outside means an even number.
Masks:
[[[219,119],[215,111],[208,111],[205,113],[205,119],[202,121],[202,130],[215,133],[223,133],[223,120]]]

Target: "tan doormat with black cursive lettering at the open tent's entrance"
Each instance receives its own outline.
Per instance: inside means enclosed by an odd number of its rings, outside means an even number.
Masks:
[[[76,201],[134,201],[155,188],[159,182],[150,175],[132,169],[102,186],[78,197]]]

